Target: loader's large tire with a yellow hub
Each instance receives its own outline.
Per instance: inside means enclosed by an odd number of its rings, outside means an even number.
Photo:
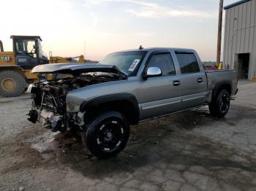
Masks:
[[[18,71],[0,72],[0,95],[3,97],[16,97],[24,93],[26,79]]]

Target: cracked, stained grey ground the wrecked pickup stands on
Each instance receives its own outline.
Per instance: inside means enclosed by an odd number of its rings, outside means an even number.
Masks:
[[[109,160],[28,122],[29,95],[0,98],[0,190],[256,190],[256,84],[239,88],[225,119],[203,107],[143,122]]]

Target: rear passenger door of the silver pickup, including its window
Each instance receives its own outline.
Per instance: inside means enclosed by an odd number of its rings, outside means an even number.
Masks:
[[[175,52],[181,70],[182,108],[200,106],[206,101],[207,79],[194,52]]]

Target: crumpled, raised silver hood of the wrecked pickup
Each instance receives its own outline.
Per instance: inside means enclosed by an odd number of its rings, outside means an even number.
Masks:
[[[31,73],[38,74],[82,74],[87,72],[110,72],[114,74],[124,74],[114,65],[105,65],[99,63],[49,63],[35,66]]]

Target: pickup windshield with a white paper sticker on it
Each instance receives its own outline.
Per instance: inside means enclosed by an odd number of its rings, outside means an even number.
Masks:
[[[146,51],[116,52],[107,55],[101,64],[115,65],[127,76],[133,76],[137,73],[140,63],[143,61]]]

